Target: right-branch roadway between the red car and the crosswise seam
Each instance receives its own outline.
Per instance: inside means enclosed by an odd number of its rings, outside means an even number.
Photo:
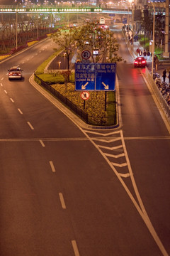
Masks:
[[[140,69],[118,63],[117,71],[124,136],[168,136],[169,133]]]

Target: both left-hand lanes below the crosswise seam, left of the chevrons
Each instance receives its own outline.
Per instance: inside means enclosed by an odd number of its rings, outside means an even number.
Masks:
[[[0,143],[1,255],[161,255],[91,142]]]

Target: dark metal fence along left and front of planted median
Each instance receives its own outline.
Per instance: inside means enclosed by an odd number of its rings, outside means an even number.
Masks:
[[[108,127],[110,125],[114,125],[116,122],[116,114],[114,114],[113,117],[94,117],[93,115],[89,115],[84,110],[81,110],[77,105],[75,105],[71,100],[69,100],[67,97],[64,97],[60,92],[57,92],[55,88],[53,88],[51,85],[48,85],[47,82],[44,82],[42,79],[38,77],[34,73],[34,79],[35,82],[38,83],[38,85],[44,87],[46,90],[48,90],[52,95],[57,97],[60,102],[62,102],[64,105],[66,105],[69,110],[72,110],[74,114],[77,114],[86,124],[96,125],[96,126],[103,126]]]

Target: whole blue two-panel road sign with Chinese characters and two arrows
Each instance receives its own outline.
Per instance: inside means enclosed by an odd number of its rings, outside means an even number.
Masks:
[[[75,90],[115,90],[115,63],[75,63]]]

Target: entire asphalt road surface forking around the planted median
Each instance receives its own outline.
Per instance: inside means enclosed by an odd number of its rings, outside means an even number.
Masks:
[[[30,85],[50,39],[0,63],[1,256],[170,253],[169,132],[115,33],[118,129],[82,129]],[[8,81],[13,65],[24,80]]]

